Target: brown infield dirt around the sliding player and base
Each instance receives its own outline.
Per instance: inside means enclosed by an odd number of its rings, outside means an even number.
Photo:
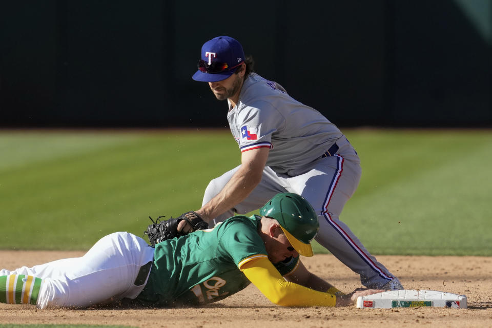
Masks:
[[[0,251],[0,267],[15,269],[82,252]],[[492,258],[379,256],[406,289],[429,289],[468,297],[468,309],[280,308],[254,286],[204,308],[37,310],[32,305],[0,304],[0,323],[121,324],[135,327],[492,327]],[[342,291],[360,287],[357,276],[331,255],[302,258],[312,272]]]

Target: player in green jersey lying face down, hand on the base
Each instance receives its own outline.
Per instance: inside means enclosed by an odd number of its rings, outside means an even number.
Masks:
[[[299,254],[312,256],[319,224],[296,194],[274,196],[260,215],[234,216],[151,247],[119,232],[100,239],[82,257],[32,268],[0,270],[0,302],[90,306],[121,301],[142,306],[200,305],[221,300],[250,282],[273,303],[335,306],[380,290],[343,294],[310,273]]]

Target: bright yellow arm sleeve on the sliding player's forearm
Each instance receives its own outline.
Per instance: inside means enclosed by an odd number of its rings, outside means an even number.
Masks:
[[[272,303],[281,306],[335,306],[337,297],[286,281],[266,257],[239,268]]]

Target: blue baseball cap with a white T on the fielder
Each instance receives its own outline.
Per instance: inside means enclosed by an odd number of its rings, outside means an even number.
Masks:
[[[195,81],[217,82],[234,74],[244,61],[241,44],[230,36],[217,36],[201,47]]]

